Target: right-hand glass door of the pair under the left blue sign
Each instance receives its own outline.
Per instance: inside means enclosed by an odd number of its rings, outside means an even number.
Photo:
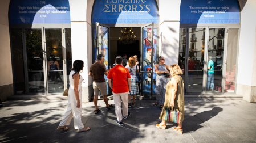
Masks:
[[[64,91],[62,28],[44,28],[44,33],[47,93],[62,93]]]

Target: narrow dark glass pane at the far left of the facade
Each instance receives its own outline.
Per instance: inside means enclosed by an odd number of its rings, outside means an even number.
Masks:
[[[11,29],[11,48],[13,52],[13,77],[15,94],[26,93],[22,46],[22,29]]]

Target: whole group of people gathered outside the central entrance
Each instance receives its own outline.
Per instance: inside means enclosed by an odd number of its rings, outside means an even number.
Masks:
[[[124,60],[125,58],[125,60]],[[139,84],[136,81],[136,73],[139,73],[139,62],[137,62],[137,56],[126,57],[117,56],[115,59],[115,66],[110,70],[106,70],[102,64],[104,57],[102,54],[97,55],[97,61],[91,65],[89,75],[93,77],[93,89],[94,89],[94,105],[97,114],[100,112],[97,108],[97,97],[99,92],[103,94],[103,99],[106,104],[106,110],[113,108],[112,104],[108,104],[107,99],[107,85],[105,84],[104,75],[108,78],[108,85],[113,92],[113,99],[115,103],[116,123],[123,125],[123,119],[127,119],[131,115],[128,112],[128,108],[134,106],[136,95],[139,94]],[[124,61],[126,62],[124,64]],[[160,104],[160,110],[163,108],[169,109],[175,107],[178,112],[182,113],[180,123],[178,127],[174,128],[175,131],[180,133],[182,130],[182,121],[184,120],[184,95],[183,95],[183,81],[180,75],[182,70],[177,64],[167,66],[164,57],[159,57],[159,64],[155,65],[156,72],[156,103],[153,106]],[[125,65],[125,67],[123,66]],[[65,112],[62,121],[59,124],[58,130],[67,130],[71,122],[72,117],[74,118],[74,126],[78,131],[88,131],[90,127],[84,127],[82,123],[82,81],[83,78],[79,74],[83,70],[83,61],[76,60],[73,63],[69,76],[70,89],[68,91],[68,107]],[[170,77],[172,77],[170,79]],[[121,102],[122,101],[122,102]],[[122,103],[122,106],[121,106]],[[121,109],[122,108],[122,109]],[[121,112],[123,110],[123,114]],[[163,119],[164,110],[162,110],[159,119]],[[165,129],[166,121],[162,120],[160,124],[156,124],[157,128]]]

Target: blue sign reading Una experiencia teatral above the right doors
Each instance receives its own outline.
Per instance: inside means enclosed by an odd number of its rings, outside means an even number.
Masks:
[[[239,24],[237,0],[182,0],[180,23]]]

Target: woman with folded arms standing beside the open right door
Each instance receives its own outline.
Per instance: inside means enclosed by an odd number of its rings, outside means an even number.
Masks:
[[[159,64],[155,65],[155,72],[156,72],[156,103],[160,104],[160,110],[164,106],[164,99],[165,99],[165,91],[166,85],[168,83],[168,77],[165,77],[165,73],[170,74],[170,70],[165,63],[165,59],[163,56],[159,57]],[[170,75],[169,75],[170,77]]]

